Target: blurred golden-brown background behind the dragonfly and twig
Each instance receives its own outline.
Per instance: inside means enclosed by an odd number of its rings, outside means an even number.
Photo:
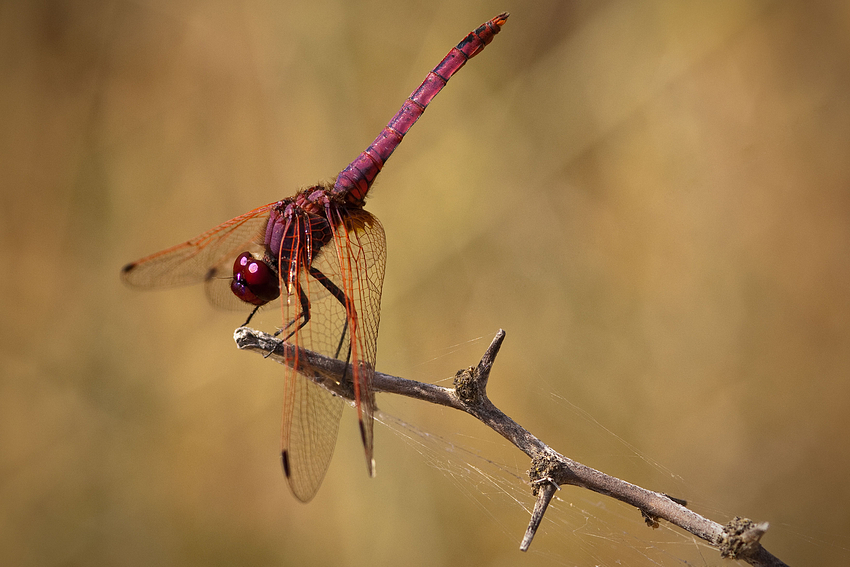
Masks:
[[[846,564],[850,8],[737,0],[0,5],[4,564],[723,563],[568,487],[521,554],[525,456],[384,395],[378,476],[347,409],[302,505],[245,314],[119,280],[334,177],[503,10],[367,204],[378,369],[450,384],[504,328],[491,398],[555,449]]]

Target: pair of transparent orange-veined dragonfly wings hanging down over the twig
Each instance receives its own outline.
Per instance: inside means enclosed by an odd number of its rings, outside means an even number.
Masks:
[[[333,240],[299,265],[298,284],[282,298],[284,321],[309,321],[290,339],[296,346],[350,362],[369,472],[372,473],[372,376],[385,265],[383,228],[362,209],[333,210]],[[309,231],[297,231],[309,234]],[[293,248],[303,243],[293,243]],[[281,267],[281,273],[285,269]],[[282,286],[285,288],[285,286]],[[297,323],[295,323],[297,325]],[[319,489],[333,456],[343,401],[311,382],[295,360],[286,369],[281,455],[292,493],[304,502]]]

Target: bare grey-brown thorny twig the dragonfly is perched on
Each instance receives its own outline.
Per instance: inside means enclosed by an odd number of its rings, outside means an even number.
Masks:
[[[375,392],[398,394],[464,411],[501,434],[531,458],[529,477],[537,503],[520,549],[525,551],[531,545],[537,526],[557,488],[572,485],[634,506],[651,527],[658,527],[658,520],[666,520],[716,547],[721,557],[740,559],[760,567],[785,565],[759,542],[767,530],[767,523],[756,524],[736,517],[722,526],[688,509],[683,500],[635,486],[561,455],[502,413],[487,397],[487,380],[504,338],[505,332],[499,330],[478,365],[458,371],[453,388],[380,372],[375,373],[373,387]],[[351,370],[346,372],[346,363],[341,360],[299,349],[248,327],[238,328],[234,340],[240,349],[253,350],[284,365],[290,365],[291,361],[297,359],[302,374],[338,396],[354,399],[350,381],[340,381],[342,376],[352,375]]]

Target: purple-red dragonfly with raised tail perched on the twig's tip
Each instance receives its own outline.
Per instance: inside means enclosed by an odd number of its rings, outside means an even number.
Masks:
[[[372,379],[377,357],[386,237],[363,207],[375,177],[448,80],[499,33],[504,12],[470,32],[404,101],[378,137],[333,181],[301,189],[183,244],[122,268],[143,289],[203,283],[213,305],[257,311],[279,300],[276,333],[298,347],[284,380],[281,462],[292,494],[313,498],[327,472],[343,400],[312,382],[299,349],[346,363],[369,476],[374,476]]]

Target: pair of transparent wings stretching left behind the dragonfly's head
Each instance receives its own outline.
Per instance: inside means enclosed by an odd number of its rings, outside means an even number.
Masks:
[[[183,244],[127,264],[121,270],[121,279],[133,287],[148,289],[207,282],[207,297],[214,305],[244,308],[229,293],[232,264],[242,252],[263,250],[269,211],[275,204],[254,209]]]

